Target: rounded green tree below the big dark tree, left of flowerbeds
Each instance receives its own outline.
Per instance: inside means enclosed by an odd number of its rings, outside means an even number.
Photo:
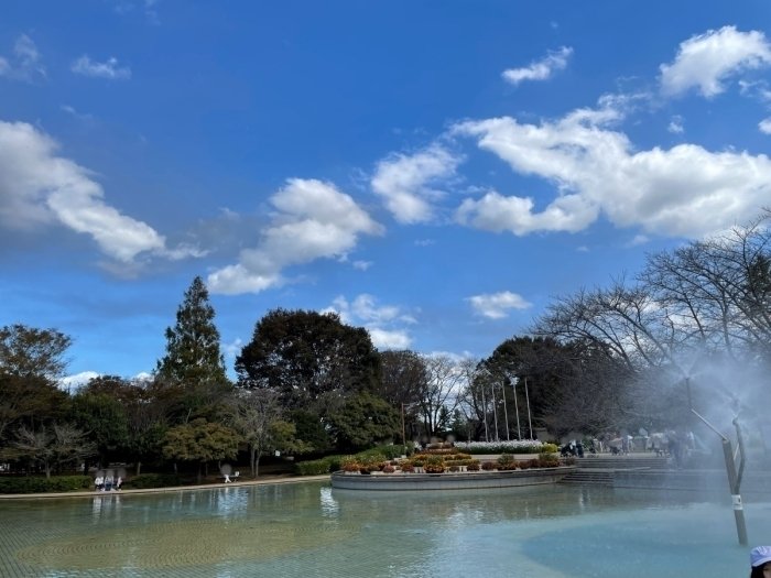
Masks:
[[[393,439],[401,433],[399,412],[367,391],[349,395],[339,410],[328,416],[337,447],[357,450]]]

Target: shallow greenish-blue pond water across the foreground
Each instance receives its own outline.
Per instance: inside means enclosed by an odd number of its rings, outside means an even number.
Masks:
[[[771,502],[745,511],[750,545],[770,544]],[[7,578],[749,575],[729,501],[682,492],[304,482],[9,501],[0,515]]]

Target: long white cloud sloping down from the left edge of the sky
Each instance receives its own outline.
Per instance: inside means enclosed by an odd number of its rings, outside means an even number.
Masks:
[[[0,226],[34,230],[51,225],[90,236],[101,251],[121,262],[170,250],[149,225],[121,215],[104,200],[88,170],[56,156],[57,144],[24,122],[0,121]],[[177,254],[180,257],[180,254]]]

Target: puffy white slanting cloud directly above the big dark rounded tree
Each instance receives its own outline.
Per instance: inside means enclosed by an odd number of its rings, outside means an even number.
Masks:
[[[354,199],[332,183],[291,178],[271,198],[276,212],[258,247],[241,251],[239,262],[208,276],[214,293],[259,293],[281,285],[281,271],[316,259],[343,257],[360,235],[380,235]]]

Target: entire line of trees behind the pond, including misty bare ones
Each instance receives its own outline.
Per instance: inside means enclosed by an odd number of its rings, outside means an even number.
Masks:
[[[485,359],[378,351],[335,314],[270,310],[231,382],[196,277],[149,380],[63,391],[70,338],[0,329],[0,461],[25,471],[129,462],[205,470],[275,450],[317,457],[383,441],[655,430],[691,408],[762,407],[771,361],[769,215],[650,255],[633,277],[556,297]]]

